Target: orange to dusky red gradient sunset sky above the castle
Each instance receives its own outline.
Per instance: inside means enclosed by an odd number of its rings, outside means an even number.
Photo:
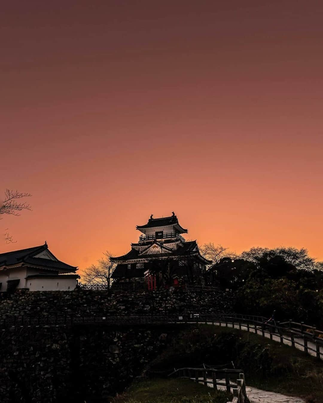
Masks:
[[[0,251],[46,239],[82,270],[174,210],[199,243],[323,260],[321,1],[13,0],[0,19],[0,191],[33,207]]]

